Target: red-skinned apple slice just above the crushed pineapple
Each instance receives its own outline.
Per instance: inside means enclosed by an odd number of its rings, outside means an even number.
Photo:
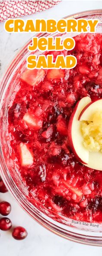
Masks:
[[[91,102],[83,108],[79,115],[79,121],[93,121],[93,115],[95,112],[102,112],[102,98]]]

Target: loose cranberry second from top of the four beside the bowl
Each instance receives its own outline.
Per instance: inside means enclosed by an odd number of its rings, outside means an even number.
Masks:
[[[10,203],[6,201],[0,202],[0,214],[2,214],[3,216],[6,216],[10,213],[10,211],[11,211]]]

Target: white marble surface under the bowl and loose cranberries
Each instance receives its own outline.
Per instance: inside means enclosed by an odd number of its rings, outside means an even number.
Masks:
[[[83,10],[102,8],[102,1],[62,1],[58,6],[45,12],[31,15],[30,18],[56,18]],[[26,17],[23,17],[26,20]],[[0,76],[13,59],[15,53],[32,37],[31,33],[7,34],[0,24]],[[12,205],[10,218],[13,225],[22,225],[28,231],[28,237],[23,241],[16,241],[10,232],[0,232],[0,256],[102,256],[102,247],[92,247],[64,240],[29,217],[11,197],[9,193],[0,194],[0,200],[8,200]]]

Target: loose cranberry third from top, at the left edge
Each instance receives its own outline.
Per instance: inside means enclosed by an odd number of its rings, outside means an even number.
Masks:
[[[12,226],[12,222],[9,218],[0,219],[0,230],[3,230],[3,231],[10,230],[11,226]]]

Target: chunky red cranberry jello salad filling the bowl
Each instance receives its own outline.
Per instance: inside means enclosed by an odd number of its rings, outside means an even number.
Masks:
[[[36,198],[42,210],[59,214],[60,219],[102,222],[102,171],[78,162],[67,139],[77,101],[87,95],[92,100],[102,98],[102,35],[81,34],[74,39],[75,48],[61,52],[76,56],[74,69],[22,74],[8,109],[6,138],[10,158],[34,204]]]

